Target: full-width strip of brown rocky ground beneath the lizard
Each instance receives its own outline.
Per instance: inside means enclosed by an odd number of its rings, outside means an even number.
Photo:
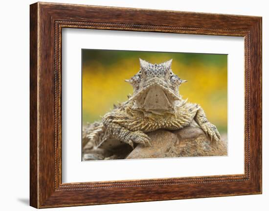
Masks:
[[[148,133],[151,146],[138,144],[133,149],[129,144],[120,144],[94,149],[91,142],[87,142],[83,132],[83,161],[115,160],[115,159],[142,159],[142,158],[172,158],[172,157],[198,157],[198,156],[226,156],[227,138],[222,134],[218,143],[211,142],[201,128],[196,126],[185,127],[177,131],[157,130]],[[113,145],[113,144],[112,144]]]

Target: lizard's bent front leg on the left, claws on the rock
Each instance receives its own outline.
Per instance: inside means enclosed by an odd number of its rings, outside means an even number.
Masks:
[[[150,145],[150,138],[142,131],[131,131],[124,127],[124,124],[128,124],[128,117],[123,114],[107,114],[103,118],[103,124],[106,127],[108,133],[113,138],[128,143],[134,148],[134,143],[141,143],[143,145]]]

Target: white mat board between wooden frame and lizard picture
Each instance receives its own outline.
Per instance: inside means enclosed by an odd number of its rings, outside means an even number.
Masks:
[[[81,162],[82,48],[228,54],[228,156]],[[244,38],[65,28],[62,61],[64,183],[244,173]]]

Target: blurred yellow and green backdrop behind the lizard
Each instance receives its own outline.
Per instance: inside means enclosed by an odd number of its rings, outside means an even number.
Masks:
[[[139,71],[141,58],[150,63],[173,59],[172,70],[187,80],[183,98],[199,103],[210,122],[227,132],[227,55],[82,49],[82,121],[100,120],[113,104],[127,100],[133,89],[125,79]]]

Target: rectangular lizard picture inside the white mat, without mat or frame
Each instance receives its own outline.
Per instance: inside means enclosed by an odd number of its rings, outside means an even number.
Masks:
[[[82,161],[227,156],[227,54],[81,53]]]

